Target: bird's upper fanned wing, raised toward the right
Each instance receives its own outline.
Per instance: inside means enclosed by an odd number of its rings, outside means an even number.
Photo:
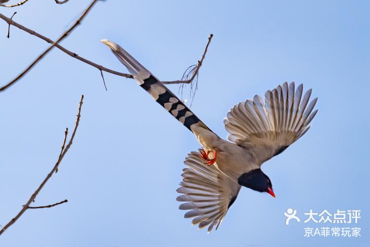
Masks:
[[[317,98],[311,89],[302,97],[303,85],[287,82],[235,105],[224,119],[228,139],[250,150],[259,164],[283,152],[309,129]]]

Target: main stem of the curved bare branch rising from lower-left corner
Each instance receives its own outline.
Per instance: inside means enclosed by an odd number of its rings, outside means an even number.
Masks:
[[[81,107],[82,107],[82,103],[83,103],[83,95],[81,95],[81,100],[79,102],[79,107],[78,107],[78,114],[77,114],[77,118],[76,118],[76,123],[74,125],[74,130],[73,130],[73,133],[72,133],[72,136],[71,136],[71,139],[70,141],[68,142],[67,146],[63,149],[63,152],[61,152],[61,155],[59,155],[59,158],[58,158],[58,161],[57,163],[54,165],[53,169],[49,172],[49,174],[47,174],[47,176],[45,177],[45,179],[42,181],[42,183],[38,186],[37,190],[34,192],[34,194],[32,194],[32,196],[30,197],[30,199],[28,200],[28,202],[22,206],[22,209],[19,211],[19,213],[13,218],[11,219],[1,230],[0,230],[0,235],[3,234],[11,225],[13,225],[18,219],[19,217],[22,216],[22,214],[27,210],[29,209],[29,206],[31,205],[31,203],[33,203],[38,195],[38,193],[41,191],[41,189],[44,187],[44,185],[46,184],[46,182],[51,178],[51,176],[53,175],[53,173],[58,169],[58,166],[60,165],[60,163],[62,162],[64,156],[66,155],[66,153],[68,152],[68,150],[70,149],[72,143],[73,143],[73,140],[74,140],[74,136],[76,134],[76,130],[77,130],[77,127],[78,127],[78,124],[79,124],[79,120],[80,120],[80,117],[81,117]],[[66,129],[65,131],[65,139],[67,138],[67,135],[68,135],[68,128]],[[63,146],[64,146],[65,142],[63,141]]]

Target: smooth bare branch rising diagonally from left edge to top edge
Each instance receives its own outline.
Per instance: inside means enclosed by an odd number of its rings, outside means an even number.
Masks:
[[[19,74],[13,81],[7,83],[6,85],[2,86],[0,88],[0,91],[4,91],[5,89],[7,89],[8,87],[10,87],[12,84],[14,84],[15,82],[17,82],[19,79],[21,79],[27,72],[29,72],[31,70],[32,67],[34,67],[35,64],[37,64],[37,62],[39,60],[41,60],[43,58],[43,56],[45,56],[54,46],[56,43],[59,43],[60,41],[64,40],[73,30],[75,27],[77,27],[82,19],[87,15],[87,13],[89,12],[89,10],[94,6],[94,4],[97,2],[98,0],[93,0],[90,5],[86,8],[86,10],[83,12],[83,14],[81,15],[81,17],[74,23],[74,25],[69,28],[57,41],[55,41],[52,45],[50,45],[44,52],[41,53],[41,55],[39,55],[37,57],[37,59],[32,62],[31,65],[29,65],[21,74]]]

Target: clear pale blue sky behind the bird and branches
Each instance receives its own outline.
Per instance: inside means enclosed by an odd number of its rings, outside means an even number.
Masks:
[[[89,4],[30,0],[0,12],[57,39]],[[42,5],[43,4],[43,5]],[[56,162],[65,127],[75,142],[34,206],[0,237],[1,247],[368,246],[368,1],[98,2],[62,42],[79,55],[127,72],[101,39],[119,43],[163,81],[178,80],[214,34],[191,109],[221,137],[240,101],[285,81],[319,97],[311,129],[262,166],[276,198],[242,188],[222,226],[191,226],[176,189],[194,136],[133,80],[100,72],[54,49],[0,93],[0,224],[20,210]],[[48,44],[0,21],[1,84]],[[178,91],[178,85],[170,87]],[[188,88],[184,98],[188,99]],[[292,207],[301,222],[285,225]],[[304,223],[310,209],[360,209],[357,224]],[[360,227],[361,237],[304,237],[307,227]]]

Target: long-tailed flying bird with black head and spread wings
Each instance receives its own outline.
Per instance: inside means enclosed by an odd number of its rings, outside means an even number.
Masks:
[[[174,93],[151,74],[120,45],[101,40],[128,69],[135,81],[154,100],[188,128],[201,148],[185,158],[182,182],[177,192],[179,209],[199,229],[211,232],[220,227],[240,188],[275,197],[270,178],[261,165],[281,154],[310,128],[316,116],[317,98],[310,101],[312,89],[303,94],[303,84],[284,82],[236,104],[223,120],[229,135],[220,138]]]

